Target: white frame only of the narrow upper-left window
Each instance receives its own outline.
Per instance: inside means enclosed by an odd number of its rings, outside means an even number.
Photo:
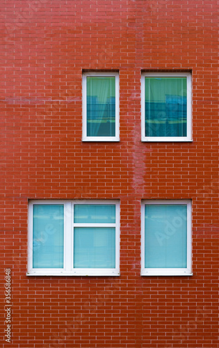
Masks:
[[[87,136],[87,77],[115,77],[115,136]],[[118,72],[85,72],[82,76],[82,141],[120,141],[120,84]]]

